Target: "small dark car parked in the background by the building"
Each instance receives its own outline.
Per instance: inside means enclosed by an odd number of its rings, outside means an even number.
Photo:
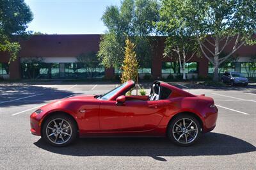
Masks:
[[[248,79],[244,77],[241,73],[237,72],[225,72],[221,77],[221,82],[226,84],[234,85],[248,85]]]

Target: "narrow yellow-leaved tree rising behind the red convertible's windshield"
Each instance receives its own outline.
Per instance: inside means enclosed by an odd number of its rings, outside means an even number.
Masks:
[[[128,38],[125,40],[125,56],[122,65],[121,81],[136,81],[138,76],[139,63],[136,58],[135,45]]]

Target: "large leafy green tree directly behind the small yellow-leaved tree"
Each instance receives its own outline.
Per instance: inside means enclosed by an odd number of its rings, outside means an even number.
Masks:
[[[127,36],[136,44],[136,54],[141,66],[148,65],[151,58],[150,35],[156,35],[154,22],[159,19],[159,4],[156,0],[124,0],[120,7],[108,6],[102,21],[108,28],[100,41],[98,56],[106,67],[120,68],[124,60]]]

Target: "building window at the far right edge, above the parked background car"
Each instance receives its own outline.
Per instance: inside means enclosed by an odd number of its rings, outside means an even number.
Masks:
[[[256,77],[256,63],[255,62],[246,62],[240,63],[240,73],[245,77]]]

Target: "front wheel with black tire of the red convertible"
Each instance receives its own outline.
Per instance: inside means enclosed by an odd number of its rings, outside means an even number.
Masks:
[[[67,146],[68,144],[74,143],[76,137],[76,122],[65,114],[54,114],[50,116],[42,126],[42,138],[52,146]]]

